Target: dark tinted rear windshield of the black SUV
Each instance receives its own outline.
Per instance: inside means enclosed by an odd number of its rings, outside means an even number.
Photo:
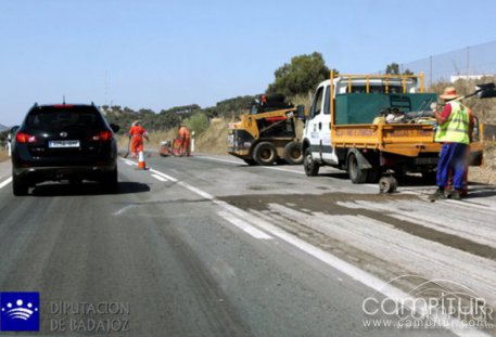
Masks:
[[[29,112],[26,126],[38,130],[60,130],[71,127],[98,129],[104,122],[93,106],[40,106]]]

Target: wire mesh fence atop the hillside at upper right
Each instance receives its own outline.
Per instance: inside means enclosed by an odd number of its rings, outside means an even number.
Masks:
[[[478,79],[482,76],[494,76],[496,41],[399,64],[402,74],[406,69],[415,74],[423,72],[428,87],[438,81],[453,82],[459,78]]]

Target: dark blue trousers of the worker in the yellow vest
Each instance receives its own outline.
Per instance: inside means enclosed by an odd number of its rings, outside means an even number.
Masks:
[[[449,172],[453,177],[453,187],[461,190],[463,186],[463,174],[467,169],[468,145],[461,143],[443,144],[437,164],[437,186],[448,185]]]

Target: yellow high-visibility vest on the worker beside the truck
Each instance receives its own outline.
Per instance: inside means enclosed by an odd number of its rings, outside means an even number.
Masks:
[[[437,126],[435,142],[469,144],[469,111],[459,102],[449,102],[452,114],[448,119]]]

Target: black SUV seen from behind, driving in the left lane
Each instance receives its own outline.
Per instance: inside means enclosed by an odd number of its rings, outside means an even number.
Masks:
[[[26,195],[43,181],[62,180],[92,180],[116,190],[118,129],[94,104],[35,104],[21,127],[13,128],[14,195]]]

